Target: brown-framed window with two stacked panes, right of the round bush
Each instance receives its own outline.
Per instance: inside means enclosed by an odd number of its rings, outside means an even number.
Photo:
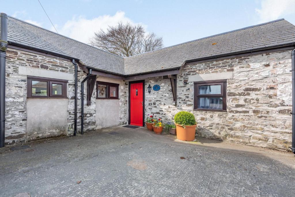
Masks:
[[[194,82],[194,110],[226,111],[226,80]]]

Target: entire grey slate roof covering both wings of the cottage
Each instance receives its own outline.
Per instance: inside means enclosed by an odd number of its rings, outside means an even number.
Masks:
[[[100,71],[133,75],[177,69],[186,60],[255,51],[277,45],[294,45],[295,26],[285,19],[278,19],[127,58],[102,51],[14,17],[8,17],[8,40],[78,58],[86,66]],[[212,45],[212,43],[217,44]]]

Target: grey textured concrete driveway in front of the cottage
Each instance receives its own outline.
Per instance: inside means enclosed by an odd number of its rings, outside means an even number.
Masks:
[[[295,196],[291,153],[146,128],[5,147],[0,167],[0,196]]]

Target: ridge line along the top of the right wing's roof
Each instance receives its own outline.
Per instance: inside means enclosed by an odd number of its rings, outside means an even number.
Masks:
[[[248,26],[248,27],[243,27],[243,28],[240,28],[240,29],[231,30],[231,31],[228,31],[228,32],[223,32],[223,33],[207,36],[207,37],[204,37],[204,38],[199,38],[199,39],[196,39],[196,40],[187,41],[187,42],[176,44],[176,45],[155,49],[153,51],[159,51],[159,50],[162,50],[162,49],[165,49],[165,48],[170,48],[170,47],[174,47],[174,46],[178,46],[178,45],[182,45],[182,44],[186,44],[186,43],[191,43],[191,42],[198,41],[198,40],[203,40],[203,39],[206,39],[206,38],[213,38],[215,36],[224,35],[224,34],[227,34],[227,33],[232,33],[232,32],[236,32],[236,31],[240,31],[240,30],[245,30],[245,29],[249,29],[249,28],[253,28],[253,27],[258,27],[258,26],[261,26],[261,25],[267,25],[269,23],[278,22],[278,21],[281,21],[281,20],[285,20],[285,19],[281,18],[281,19],[276,19],[276,20],[273,20],[273,21],[261,23],[261,24],[258,24],[258,25],[252,25],[252,26]],[[151,53],[153,51],[147,51],[147,52],[144,52],[144,53],[136,54],[134,56],[139,56],[139,55],[142,55],[142,54],[145,54],[145,53]],[[131,58],[131,57],[134,57],[134,56],[124,57],[124,59]]]

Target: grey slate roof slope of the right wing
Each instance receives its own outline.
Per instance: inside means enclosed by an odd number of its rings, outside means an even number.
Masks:
[[[124,61],[125,74],[173,69],[180,67],[186,60],[282,44],[295,44],[295,26],[285,19],[278,19],[127,57]]]

